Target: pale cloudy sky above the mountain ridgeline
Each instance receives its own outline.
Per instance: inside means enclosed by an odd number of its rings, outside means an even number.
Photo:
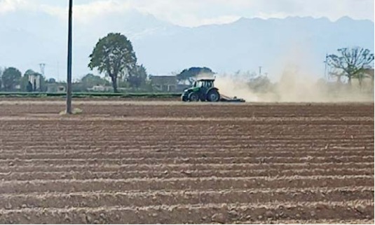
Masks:
[[[12,11],[43,11],[65,18],[68,0],[0,0],[0,14]],[[112,12],[136,9],[176,25],[232,22],[240,17],[343,16],[374,21],[374,0],[74,0],[77,22]]]

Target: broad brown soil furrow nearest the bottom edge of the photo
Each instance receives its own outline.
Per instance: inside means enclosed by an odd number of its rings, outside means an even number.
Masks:
[[[1,223],[41,224],[109,223],[109,224],[183,224],[268,219],[372,219],[374,202],[355,200],[343,202],[284,202],[271,204],[200,204],[149,205],[146,207],[69,207],[0,210]],[[220,217],[220,218],[219,218]],[[217,221],[220,219],[220,221]],[[216,221],[215,221],[216,220]]]

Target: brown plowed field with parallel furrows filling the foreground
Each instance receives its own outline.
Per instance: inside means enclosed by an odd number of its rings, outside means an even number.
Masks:
[[[374,224],[374,104],[0,102],[0,223]]]

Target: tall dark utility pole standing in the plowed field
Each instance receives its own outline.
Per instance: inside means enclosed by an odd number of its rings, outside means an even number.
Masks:
[[[73,0],[69,0],[68,18],[68,68],[67,68],[67,114],[71,114],[71,27],[72,27]]]

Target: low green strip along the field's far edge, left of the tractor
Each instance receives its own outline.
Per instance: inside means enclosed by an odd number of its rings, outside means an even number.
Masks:
[[[0,97],[66,97],[66,93],[1,93]],[[72,97],[179,97],[181,93],[72,93]]]

